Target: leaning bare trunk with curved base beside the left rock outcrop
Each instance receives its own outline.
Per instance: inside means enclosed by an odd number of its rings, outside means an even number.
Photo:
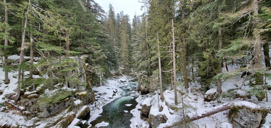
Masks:
[[[28,2],[30,4],[30,0]],[[19,61],[19,70],[18,70],[18,87],[17,87],[17,94],[15,96],[11,96],[11,100],[17,101],[20,97],[21,93],[21,63],[24,59],[24,39],[25,39],[25,28],[27,27],[27,20],[28,20],[28,12],[29,12],[29,7],[27,7],[27,11],[25,13],[25,21],[24,21],[24,31],[22,33],[22,45],[21,45],[21,53],[20,53],[20,61]]]

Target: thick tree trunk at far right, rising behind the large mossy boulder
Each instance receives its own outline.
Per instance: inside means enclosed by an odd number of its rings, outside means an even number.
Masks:
[[[253,5],[254,12],[253,16],[258,15],[258,1],[252,0],[251,4]],[[257,23],[254,22],[253,26],[257,26]],[[262,68],[262,46],[261,46],[261,37],[260,35],[253,35],[253,38],[256,38],[256,42],[254,43],[254,62],[255,62],[255,69],[261,69]],[[256,85],[263,85],[263,76],[257,75],[255,77]],[[265,98],[265,95],[257,96],[259,101],[262,101]]]

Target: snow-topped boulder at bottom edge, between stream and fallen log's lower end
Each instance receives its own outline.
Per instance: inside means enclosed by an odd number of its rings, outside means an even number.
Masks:
[[[160,124],[166,123],[167,117],[163,114],[149,115],[149,124],[151,128],[157,128]]]

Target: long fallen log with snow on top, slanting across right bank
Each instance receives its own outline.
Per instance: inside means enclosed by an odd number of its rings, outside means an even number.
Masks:
[[[232,100],[232,101],[230,101],[228,103],[224,103],[224,104],[222,104],[220,106],[216,106],[216,107],[214,107],[212,109],[205,110],[201,114],[198,114],[198,115],[196,115],[194,117],[191,117],[189,119],[180,120],[178,123],[173,124],[173,126],[168,126],[166,128],[178,126],[178,125],[181,125],[181,124],[184,124],[184,123],[187,123],[187,122],[192,122],[192,121],[195,121],[195,120],[198,120],[198,119],[202,119],[204,117],[211,116],[211,115],[219,113],[219,112],[223,112],[225,110],[230,109],[234,105],[234,103],[238,102],[238,101],[248,101],[248,99],[247,98],[237,98],[237,99],[234,99],[234,100]]]

